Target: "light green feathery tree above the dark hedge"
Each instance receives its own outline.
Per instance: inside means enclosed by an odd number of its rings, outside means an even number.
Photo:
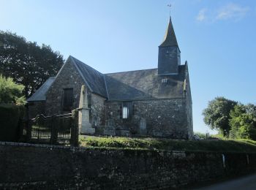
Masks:
[[[25,104],[23,85],[13,82],[10,77],[0,75],[0,104]]]

